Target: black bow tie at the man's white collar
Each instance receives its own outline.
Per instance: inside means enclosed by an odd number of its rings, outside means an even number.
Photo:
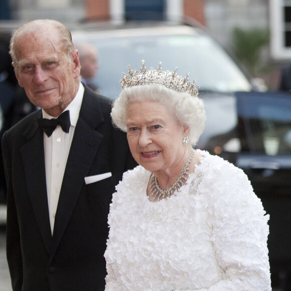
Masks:
[[[65,132],[69,132],[70,129],[70,111],[64,111],[58,118],[46,119],[40,118],[38,119],[39,127],[47,134],[47,136],[51,136],[53,131],[56,129],[57,125],[60,125]]]

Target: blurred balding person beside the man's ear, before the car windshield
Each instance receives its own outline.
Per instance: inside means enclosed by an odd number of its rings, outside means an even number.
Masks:
[[[92,82],[98,70],[97,49],[89,43],[77,43],[75,47],[79,52],[82,82],[99,93],[99,88]]]

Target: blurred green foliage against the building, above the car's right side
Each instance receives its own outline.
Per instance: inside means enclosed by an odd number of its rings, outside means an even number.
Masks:
[[[269,39],[269,32],[265,29],[235,27],[232,31],[234,54],[253,76],[263,70],[261,51],[268,45]]]

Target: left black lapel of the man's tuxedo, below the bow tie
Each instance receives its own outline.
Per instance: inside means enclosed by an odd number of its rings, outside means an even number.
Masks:
[[[26,184],[39,231],[49,252],[52,236],[46,189],[43,132],[38,130],[35,120],[24,134],[28,141],[21,149],[21,157]]]

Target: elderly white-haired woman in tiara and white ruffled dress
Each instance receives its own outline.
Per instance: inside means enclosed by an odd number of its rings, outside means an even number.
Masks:
[[[128,67],[111,116],[139,166],[113,194],[105,290],[270,290],[260,200],[242,170],[192,148],[205,122],[194,82]]]

